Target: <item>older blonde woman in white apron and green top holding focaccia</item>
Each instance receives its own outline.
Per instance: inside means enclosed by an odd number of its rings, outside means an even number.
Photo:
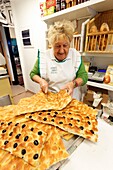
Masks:
[[[70,21],[55,22],[49,27],[48,40],[52,48],[38,52],[38,59],[30,72],[31,79],[39,83],[44,93],[66,89],[78,99],[79,87],[88,80],[80,53],[70,48],[73,33],[74,26]]]

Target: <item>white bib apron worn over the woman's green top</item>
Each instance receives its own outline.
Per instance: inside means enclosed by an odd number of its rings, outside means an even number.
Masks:
[[[44,78],[52,92],[58,92],[66,83],[76,78],[76,72],[81,64],[81,55],[75,49],[70,48],[68,56],[59,62],[53,55],[53,49],[40,52],[38,58],[40,76]],[[79,87],[74,89],[73,98],[80,100]]]

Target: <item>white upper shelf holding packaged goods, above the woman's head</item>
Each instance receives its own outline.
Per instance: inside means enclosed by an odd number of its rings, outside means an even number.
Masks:
[[[68,20],[74,20],[84,17],[92,17],[96,12],[103,12],[111,9],[113,9],[113,0],[90,0],[42,17],[42,21],[47,24],[53,24],[55,21],[65,18]]]

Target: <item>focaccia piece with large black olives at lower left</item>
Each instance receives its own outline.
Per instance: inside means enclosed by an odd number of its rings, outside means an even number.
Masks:
[[[38,128],[29,129],[26,123],[1,126],[0,148],[38,166],[38,159],[46,141],[47,133]]]

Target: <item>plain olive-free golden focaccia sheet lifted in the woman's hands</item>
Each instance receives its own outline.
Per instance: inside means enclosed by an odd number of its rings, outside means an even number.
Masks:
[[[49,92],[44,94],[39,92],[32,97],[21,99],[15,108],[15,114],[41,111],[41,110],[61,110],[66,107],[72,98],[66,90],[60,90],[58,93]]]

